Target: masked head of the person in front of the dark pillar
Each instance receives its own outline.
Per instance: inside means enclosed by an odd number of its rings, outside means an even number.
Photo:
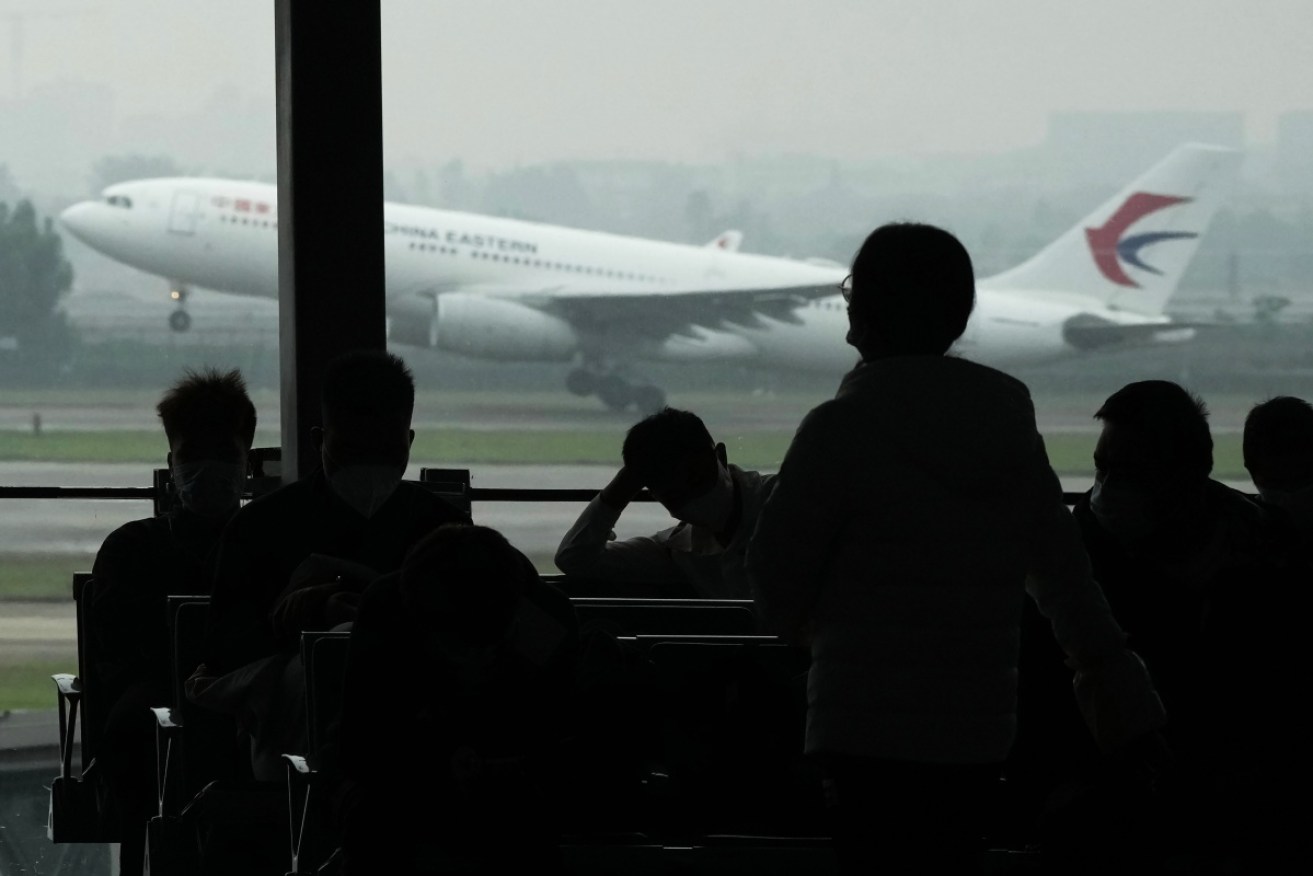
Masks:
[[[328,364],[323,426],[311,429],[334,491],[364,516],[393,494],[415,440],[415,378],[397,356],[356,351]]]

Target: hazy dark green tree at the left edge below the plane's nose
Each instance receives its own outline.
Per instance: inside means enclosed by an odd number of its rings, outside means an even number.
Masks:
[[[74,269],[50,218],[37,221],[30,201],[0,204],[0,340],[14,370],[59,364],[72,332],[59,299],[72,288]]]

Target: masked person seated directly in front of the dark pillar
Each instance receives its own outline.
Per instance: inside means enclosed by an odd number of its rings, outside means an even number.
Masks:
[[[239,714],[252,735],[257,777],[282,775],[278,755],[303,732],[295,696],[299,634],[349,621],[377,575],[465,514],[418,483],[410,461],[415,382],[400,359],[347,353],[328,365],[322,468],[243,508],[219,544],[205,663],[189,683],[202,705]],[[272,659],[273,658],[273,659]],[[281,666],[280,666],[281,662]],[[285,721],[263,712],[274,709]]]

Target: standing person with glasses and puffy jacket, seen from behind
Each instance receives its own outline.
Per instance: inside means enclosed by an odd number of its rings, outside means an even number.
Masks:
[[[1023,383],[945,355],[974,303],[947,231],[852,264],[861,361],[807,414],[748,546],[762,620],[809,641],[806,749],[848,872],[969,871],[1015,732],[1029,592],[1109,747],[1161,720],[1090,574]],[[1092,690],[1091,690],[1092,688]]]

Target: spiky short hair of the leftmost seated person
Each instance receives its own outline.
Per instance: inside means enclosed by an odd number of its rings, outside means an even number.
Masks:
[[[232,435],[246,449],[255,441],[255,405],[242,372],[217,368],[186,369],[164,393],[155,411],[169,444],[186,436]]]

